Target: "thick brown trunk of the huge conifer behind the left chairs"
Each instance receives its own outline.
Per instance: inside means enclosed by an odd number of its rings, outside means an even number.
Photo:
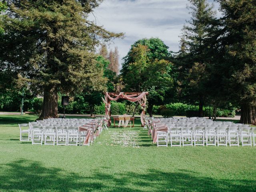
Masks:
[[[58,90],[57,87],[44,88],[44,102],[40,118],[58,117]]]

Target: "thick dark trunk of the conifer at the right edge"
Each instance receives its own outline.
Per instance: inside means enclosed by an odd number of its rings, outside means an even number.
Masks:
[[[240,123],[256,124],[256,106],[252,106],[250,104],[241,105]]]

